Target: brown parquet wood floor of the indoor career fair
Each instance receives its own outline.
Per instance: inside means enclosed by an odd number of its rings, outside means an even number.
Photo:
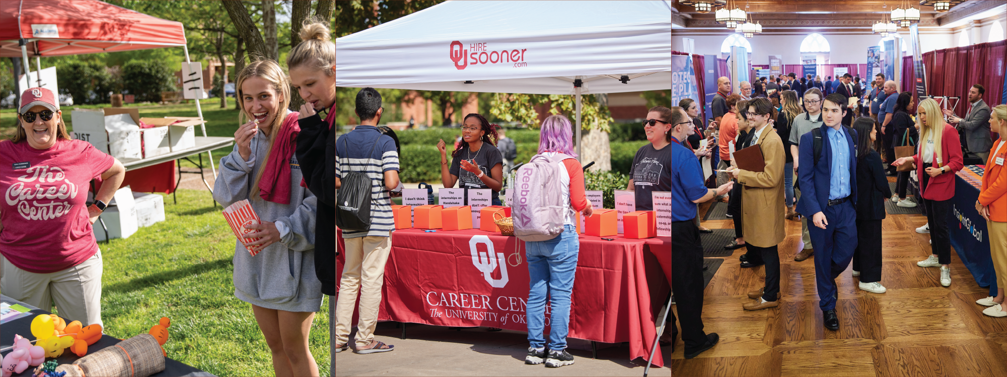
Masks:
[[[701,218],[710,203],[700,206]],[[986,297],[952,251],[952,285],[940,269],[916,265],[930,253],[929,234],[914,231],[926,217],[891,215],[882,222],[881,285],[885,294],[857,288],[848,267],[837,279],[840,330],[822,325],[814,256],[803,248],[801,222],[786,221],[779,244],[781,302],[748,312],[745,293],[758,289],[763,267],[741,268],[744,248],[725,257],[704,292],[703,323],[720,343],[686,360],[682,339],[672,355],[674,376],[1007,376],[1007,318],[984,316]],[[733,228],[732,220],[704,221]],[[675,307],[673,307],[675,310]]]

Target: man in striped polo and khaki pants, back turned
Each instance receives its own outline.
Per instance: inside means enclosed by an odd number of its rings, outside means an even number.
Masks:
[[[391,232],[395,227],[389,190],[399,186],[399,153],[395,141],[378,131],[384,109],[381,95],[372,87],[356,93],[356,117],[361,125],[335,142],[335,188],[341,172],[365,172],[371,177],[371,228],[368,231],[344,230],[346,263],[339,281],[335,305],[335,352],[345,350],[353,324],[353,305],[361,294],[356,353],[392,351],[394,346],[374,340],[378,324],[378,306],[385,281],[385,262],[392,250]]]

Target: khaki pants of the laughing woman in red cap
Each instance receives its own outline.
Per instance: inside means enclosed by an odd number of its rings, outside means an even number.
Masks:
[[[59,317],[84,326],[102,324],[102,251],[81,264],[50,273],[18,268],[0,255],[3,294],[49,312],[55,301]]]

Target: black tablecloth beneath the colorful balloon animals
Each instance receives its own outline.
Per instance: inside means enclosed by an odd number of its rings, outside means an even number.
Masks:
[[[22,337],[24,337],[24,338],[26,338],[28,340],[35,340],[35,337],[33,335],[31,335],[31,321],[37,315],[51,314],[49,312],[37,309],[35,307],[32,307],[32,306],[27,305],[27,304],[24,304],[24,303],[19,302],[17,300],[13,300],[13,299],[8,298],[6,296],[0,295],[0,301],[9,303],[11,305],[20,304],[20,305],[22,305],[22,306],[24,306],[24,307],[26,307],[28,309],[31,309],[31,314],[32,314],[31,316],[28,316],[28,317],[25,317],[25,318],[19,318],[17,320],[8,322],[6,324],[3,324],[3,326],[0,326],[0,348],[7,348],[7,347],[10,347],[10,346],[13,346],[14,345],[14,334],[18,334],[18,335],[20,335],[20,336],[22,336]],[[65,319],[63,319],[63,320],[65,320]],[[66,321],[66,322],[69,323],[70,321]],[[93,344],[91,346],[88,346],[88,355],[91,355],[91,354],[93,354],[95,352],[98,352],[99,350],[104,349],[106,347],[114,346],[116,343],[119,343],[119,342],[122,342],[122,341],[118,340],[116,338],[110,337],[108,335],[103,335],[102,336],[102,340],[98,341],[97,343],[95,343],[95,344]],[[170,340],[169,340],[169,342],[170,342]],[[6,351],[3,354],[0,354],[0,357],[7,356],[8,353],[10,353],[10,351]],[[62,356],[59,356],[59,357],[57,357],[55,359],[45,358],[45,361],[55,360],[59,364],[71,364],[75,361],[77,361],[77,359],[80,359],[80,357],[78,357],[76,354],[74,354],[73,352],[70,352],[69,348],[67,348],[67,349],[65,349],[63,351]],[[28,369],[24,370],[24,372],[21,372],[20,374],[15,374],[14,376],[31,376],[31,372],[34,371],[35,368],[36,367],[33,367],[33,366],[32,367],[28,367]],[[198,370],[196,368],[193,368],[191,366],[182,364],[182,363],[177,362],[175,360],[171,360],[170,358],[164,358],[164,370],[161,371],[160,373],[152,374],[151,376],[184,376],[184,377],[204,377],[204,376],[209,376],[209,377],[212,377],[213,375],[209,374],[209,373],[206,373],[206,372],[203,372],[201,370]]]

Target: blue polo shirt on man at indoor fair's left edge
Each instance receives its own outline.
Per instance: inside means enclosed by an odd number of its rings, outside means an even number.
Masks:
[[[672,221],[696,218],[696,203],[709,192],[696,154],[672,137]]]

